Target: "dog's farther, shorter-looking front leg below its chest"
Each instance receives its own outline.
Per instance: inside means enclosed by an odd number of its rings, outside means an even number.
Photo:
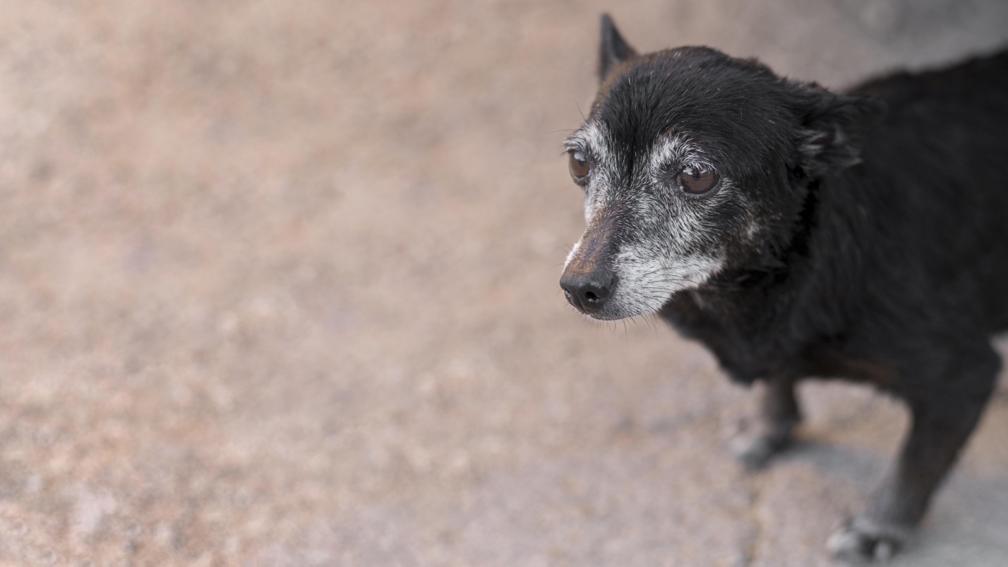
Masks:
[[[793,378],[767,378],[759,396],[755,423],[732,440],[732,452],[749,470],[766,466],[791,442],[801,421]]]

